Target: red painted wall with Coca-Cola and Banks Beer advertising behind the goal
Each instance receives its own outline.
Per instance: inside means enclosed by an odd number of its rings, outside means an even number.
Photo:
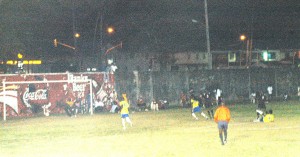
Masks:
[[[5,102],[7,116],[63,113],[62,104],[67,99],[87,103],[90,89],[93,100],[102,101],[114,91],[113,74],[103,72],[1,74],[0,79],[0,114],[3,115]]]

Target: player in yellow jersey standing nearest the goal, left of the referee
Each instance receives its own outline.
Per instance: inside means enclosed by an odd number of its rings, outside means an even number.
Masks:
[[[120,108],[121,108],[121,118],[122,118],[122,125],[123,129],[126,130],[126,122],[132,126],[132,122],[129,118],[129,103],[126,97],[122,97],[122,101],[119,103]]]

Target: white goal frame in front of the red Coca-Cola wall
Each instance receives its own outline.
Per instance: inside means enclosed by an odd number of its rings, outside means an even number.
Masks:
[[[6,121],[6,85],[11,84],[45,84],[45,83],[89,83],[90,87],[90,106],[93,105],[93,86],[92,86],[92,79],[85,79],[85,80],[43,80],[43,81],[6,81],[5,79],[2,80],[3,85],[3,120]],[[93,109],[91,109],[91,115],[93,115]]]

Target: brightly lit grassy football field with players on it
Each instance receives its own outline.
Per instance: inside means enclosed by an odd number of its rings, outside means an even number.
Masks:
[[[221,145],[217,124],[190,109],[130,113],[123,131],[119,114],[37,116],[1,121],[0,156],[265,156],[300,154],[300,102],[272,102],[274,123],[254,123],[254,104],[228,104],[232,120]]]

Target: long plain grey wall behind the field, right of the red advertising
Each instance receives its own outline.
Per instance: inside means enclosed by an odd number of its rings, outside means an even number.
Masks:
[[[134,104],[139,96],[146,102],[168,99],[179,105],[180,93],[193,88],[196,93],[222,90],[224,99],[247,101],[251,93],[273,88],[273,97],[284,94],[297,96],[299,69],[297,68],[251,68],[215,69],[201,71],[147,71],[117,72],[116,88],[119,93],[127,93]]]

